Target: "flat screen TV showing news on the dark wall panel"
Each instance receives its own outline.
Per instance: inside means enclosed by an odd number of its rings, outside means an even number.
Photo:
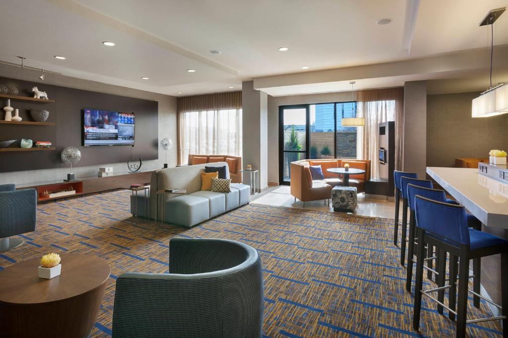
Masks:
[[[84,108],[83,145],[134,145],[134,113]]]

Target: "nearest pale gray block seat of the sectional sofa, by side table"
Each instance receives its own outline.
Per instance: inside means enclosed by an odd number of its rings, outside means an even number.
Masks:
[[[201,196],[182,195],[166,201],[165,220],[183,227],[192,227],[210,217],[210,202]]]

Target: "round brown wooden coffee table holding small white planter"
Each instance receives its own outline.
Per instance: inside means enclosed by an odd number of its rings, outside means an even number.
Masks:
[[[0,272],[0,336],[87,337],[97,320],[107,262],[85,254],[61,254],[61,274],[39,278],[41,258]]]

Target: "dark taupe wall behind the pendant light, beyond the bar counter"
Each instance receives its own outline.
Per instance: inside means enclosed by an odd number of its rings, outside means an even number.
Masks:
[[[428,167],[453,167],[456,158],[486,158],[491,149],[508,149],[508,114],[471,118],[472,99],[479,95],[427,95]]]

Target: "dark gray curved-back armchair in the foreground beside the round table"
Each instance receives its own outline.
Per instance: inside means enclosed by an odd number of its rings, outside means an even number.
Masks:
[[[261,337],[263,275],[243,243],[172,238],[169,274],[116,280],[113,337]]]

